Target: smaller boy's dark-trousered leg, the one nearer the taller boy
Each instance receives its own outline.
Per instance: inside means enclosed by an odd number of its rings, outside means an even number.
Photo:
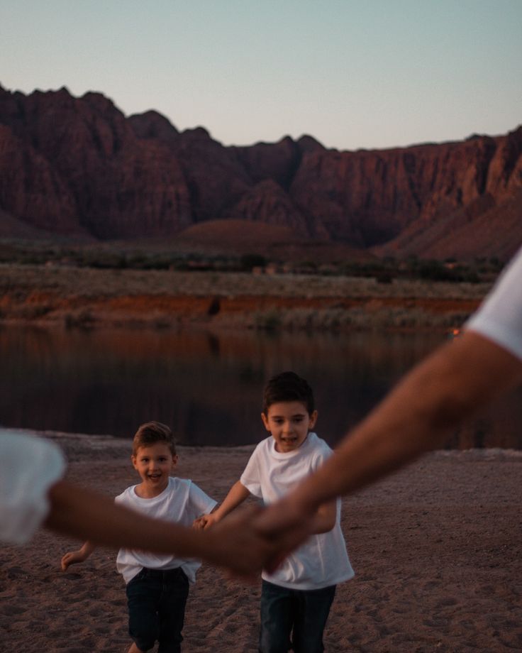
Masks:
[[[163,587],[158,605],[160,646],[157,653],[179,653],[183,641],[185,605],[189,596],[189,580],[183,569],[163,571]]]

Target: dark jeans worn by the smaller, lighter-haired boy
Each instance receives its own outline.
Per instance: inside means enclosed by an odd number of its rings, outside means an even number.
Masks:
[[[128,632],[141,651],[179,653],[189,581],[181,567],[142,569],[127,585]]]

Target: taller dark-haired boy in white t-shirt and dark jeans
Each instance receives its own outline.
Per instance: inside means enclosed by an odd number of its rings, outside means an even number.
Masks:
[[[321,466],[331,449],[311,432],[317,411],[306,380],[294,372],[272,378],[261,419],[271,437],[260,442],[223,503],[197,525],[208,528],[250,494],[274,503]],[[354,575],[340,529],[340,500],[313,515],[313,535],[274,573],[262,573],[260,652],[318,653],[335,586]]]

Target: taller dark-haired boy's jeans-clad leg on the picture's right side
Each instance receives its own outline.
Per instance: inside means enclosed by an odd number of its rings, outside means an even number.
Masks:
[[[295,653],[323,653],[323,632],[335,596],[335,585],[320,590],[296,591]]]

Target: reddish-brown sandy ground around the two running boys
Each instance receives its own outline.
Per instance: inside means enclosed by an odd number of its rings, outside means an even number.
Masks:
[[[129,443],[47,434],[70,479],[116,495],[135,482]],[[179,476],[221,500],[252,447],[182,448]],[[327,652],[522,650],[522,454],[438,452],[343,500],[356,576],[338,587]],[[60,571],[76,543],[38,532],[0,549],[0,650],[123,653],[126,598],[115,554]],[[260,588],[204,565],[191,589],[185,653],[257,650]]]

